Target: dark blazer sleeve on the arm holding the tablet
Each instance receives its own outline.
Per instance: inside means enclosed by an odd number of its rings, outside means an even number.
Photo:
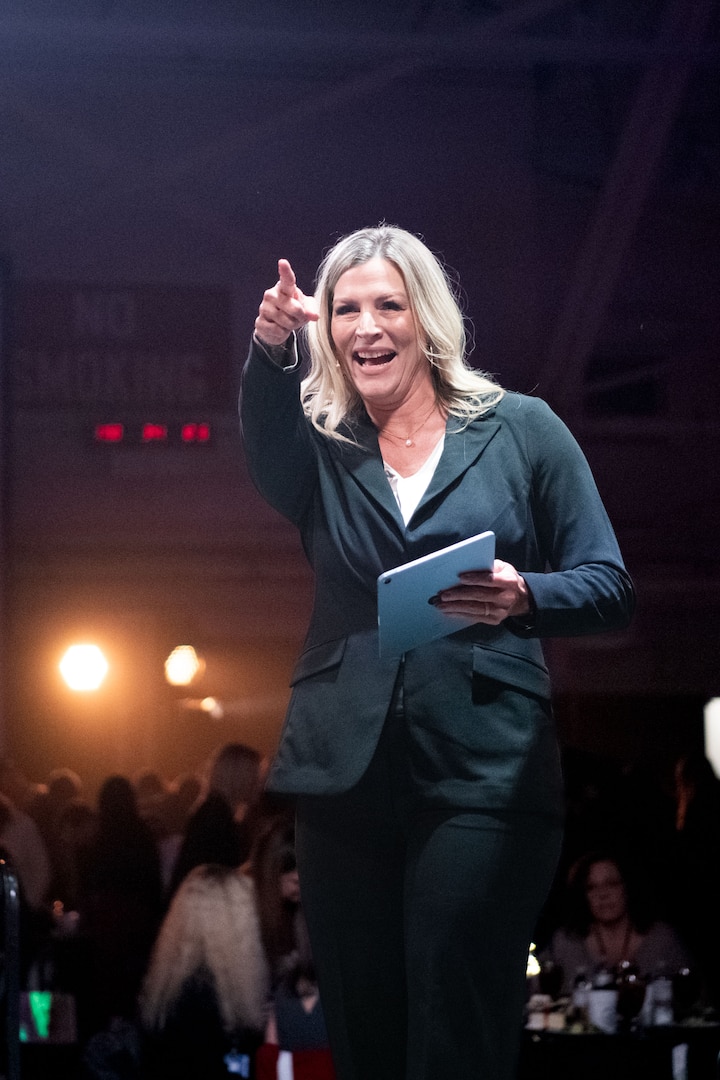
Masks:
[[[625,569],[587,460],[552,409],[533,399],[525,426],[532,470],[531,519],[544,572],[522,572],[534,602],[520,636],[567,637],[620,630],[635,609]]]

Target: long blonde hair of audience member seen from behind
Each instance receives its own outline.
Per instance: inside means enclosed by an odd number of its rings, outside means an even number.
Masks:
[[[226,1031],[263,1029],[270,980],[255,888],[228,866],[196,866],[176,892],[139,998],[146,1028],[161,1030],[201,973],[213,981]]]

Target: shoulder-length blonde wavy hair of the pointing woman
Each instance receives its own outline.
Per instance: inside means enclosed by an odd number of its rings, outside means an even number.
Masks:
[[[392,225],[358,229],[343,237],[318,267],[315,298],[320,318],[305,327],[310,352],[310,370],[301,384],[305,415],[323,434],[348,441],[338,429],[361,411],[362,401],[332,342],[332,299],[347,270],[378,257],[392,262],[405,282],[438,404],[461,421],[461,428],[466,427],[497,405],[505,391],[467,363],[462,311],[439,259],[411,232]]]

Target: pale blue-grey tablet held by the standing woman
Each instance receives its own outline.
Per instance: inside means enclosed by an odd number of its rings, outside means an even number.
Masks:
[[[402,656],[418,645],[477,622],[471,616],[444,615],[429,600],[441,589],[451,589],[466,570],[491,570],[494,557],[494,532],[479,532],[381,573],[378,578],[380,656]]]

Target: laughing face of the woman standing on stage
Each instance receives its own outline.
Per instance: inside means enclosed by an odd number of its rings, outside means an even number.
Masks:
[[[403,275],[386,259],[372,258],[340,275],[330,336],[347,375],[370,408],[396,408],[420,389],[432,389]]]

